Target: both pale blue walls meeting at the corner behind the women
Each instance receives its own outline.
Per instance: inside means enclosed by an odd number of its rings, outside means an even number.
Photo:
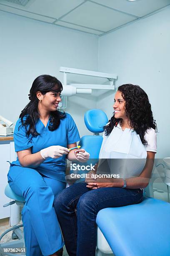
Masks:
[[[116,86],[139,84],[158,124],[158,157],[169,156],[170,8],[98,39],[97,36],[0,12],[0,115],[16,122],[40,74],[62,81],[60,66],[117,73]],[[97,51],[98,50],[98,51]],[[97,56],[98,55],[98,56]],[[114,93],[97,99],[70,97],[67,112],[87,134],[83,115],[90,108],[112,115]]]

